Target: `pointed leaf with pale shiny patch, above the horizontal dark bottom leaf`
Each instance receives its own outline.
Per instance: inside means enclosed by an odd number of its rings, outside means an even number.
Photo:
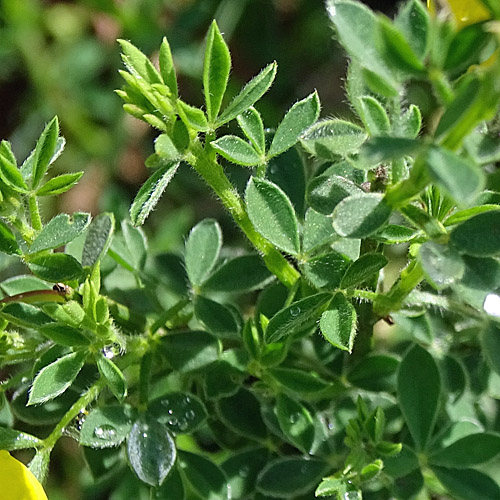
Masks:
[[[287,440],[308,453],[314,441],[313,418],[309,410],[286,394],[278,394],[275,412]]]

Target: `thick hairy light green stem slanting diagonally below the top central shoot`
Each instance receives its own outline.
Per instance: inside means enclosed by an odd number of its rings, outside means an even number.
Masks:
[[[201,175],[203,180],[214,190],[224,207],[250,240],[255,249],[262,255],[267,268],[288,288],[300,278],[299,272],[262,237],[253,227],[246,212],[243,201],[224,174],[222,167],[211,160],[202,145],[194,142],[186,161]]]

